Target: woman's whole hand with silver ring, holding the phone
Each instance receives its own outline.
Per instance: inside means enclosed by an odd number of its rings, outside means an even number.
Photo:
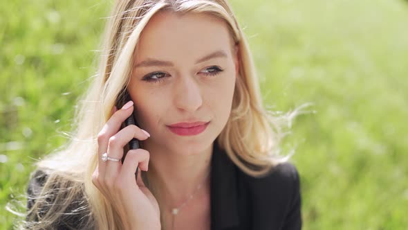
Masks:
[[[160,229],[158,203],[140,177],[140,170],[147,171],[149,152],[140,148],[129,150],[123,165],[120,161],[102,161],[105,152],[111,158],[122,159],[124,145],[133,138],[149,138],[149,134],[136,125],[120,130],[120,125],[133,112],[133,102],[129,101],[122,109],[116,110],[98,134],[98,166],[92,182],[120,213],[128,229]]]

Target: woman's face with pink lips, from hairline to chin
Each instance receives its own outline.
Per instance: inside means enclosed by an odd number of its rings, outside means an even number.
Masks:
[[[177,154],[208,148],[228,121],[237,78],[225,21],[159,12],[140,35],[134,60],[129,94],[136,121],[151,134],[144,146]],[[177,125],[195,122],[205,125]]]

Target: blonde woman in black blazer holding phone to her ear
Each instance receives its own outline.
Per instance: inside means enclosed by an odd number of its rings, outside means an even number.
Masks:
[[[226,1],[115,1],[104,38],[75,138],[30,182],[27,228],[301,228],[297,170]]]

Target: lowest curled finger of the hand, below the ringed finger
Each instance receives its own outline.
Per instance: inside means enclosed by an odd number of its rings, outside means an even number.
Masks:
[[[149,159],[150,153],[147,150],[144,150],[142,148],[139,148],[137,150],[129,150],[129,152],[127,152],[126,158],[124,159],[120,177],[129,184],[136,183],[136,168],[139,166],[139,171],[147,171],[149,166]],[[138,174],[140,174],[140,172]],[[140,182],[142,182],[142,179],[138,178],[138,185]]]

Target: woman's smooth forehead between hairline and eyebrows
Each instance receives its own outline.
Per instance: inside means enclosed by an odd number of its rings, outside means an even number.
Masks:
[[[174,59],[223,50],[230,55],[232,37],[227,23],[203,13],[162,11],[145,26],[136,48],[136,61],[143,57]]]

